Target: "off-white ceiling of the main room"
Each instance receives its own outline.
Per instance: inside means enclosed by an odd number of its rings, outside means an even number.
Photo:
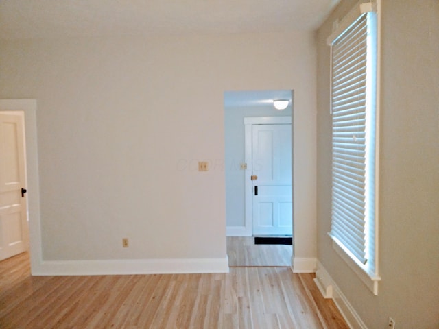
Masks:
[[[0,38],[317,29],[340,0],[0,0]]]

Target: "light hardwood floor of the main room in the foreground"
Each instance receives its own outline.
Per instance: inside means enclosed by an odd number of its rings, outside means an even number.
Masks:
[[[348,328],[313,275],[287,267],[36,277],[25,253],[0,278],[0,328]]]

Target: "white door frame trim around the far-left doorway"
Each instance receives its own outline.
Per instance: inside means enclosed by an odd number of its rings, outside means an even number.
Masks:
[[[27,220],[29,222],[31,272],[40,267],[41,252],[40,187],[36,141],[36,99],[0,99],[4,111],[25,113],[25,163],[27,177]]]

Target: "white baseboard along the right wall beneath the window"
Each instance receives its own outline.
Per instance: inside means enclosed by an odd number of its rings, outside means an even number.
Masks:
[[[342,291],[340,291],[337,284],[335,284],[334,280],[319,261],[317,261],[317,271],[314,282],[316,282],[323,297],[333,299],[349,328],[367,329],[366,324],[361,320],[351,303],[347,300]]]

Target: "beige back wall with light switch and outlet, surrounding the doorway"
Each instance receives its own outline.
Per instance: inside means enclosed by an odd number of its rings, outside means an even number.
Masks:
[[[298,256],[315,257],[315,34],[1,41],[0,97],[38,101],[43,258],[224,258],[224,168],[195,164],[224,162],[224,90],[265,89],[295,90]]]

